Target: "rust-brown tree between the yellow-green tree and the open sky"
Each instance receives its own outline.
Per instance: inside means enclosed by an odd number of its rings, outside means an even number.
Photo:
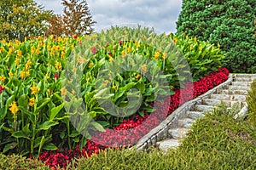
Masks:
[[[48,34],[56,36],[73,34],[90,34],[93,31],[92,26],[96,21],[92,20],[88,3],[84,0],[62,0],[64,5],[64,14],[55,15],[49,20]]]

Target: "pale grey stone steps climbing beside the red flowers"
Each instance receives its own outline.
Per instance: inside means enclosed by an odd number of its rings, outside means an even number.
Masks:
[[[232,77],[233,80],[229,85],[217,89],[215,93],[198,100],[190,107],[190,110],[186,111],[186,116],[177,120],[177,127],[168,130],[168,138],[156,143],[157,147],[161,150],[177,147],[195,120],[204,116],[205,112],[212,111],[212,108],[222,101],[230,107],[237,105],[237,103],[241,108],[246,105],[247,90],[250,88],[253,79],[256,79],[256,74],[236,74]]]

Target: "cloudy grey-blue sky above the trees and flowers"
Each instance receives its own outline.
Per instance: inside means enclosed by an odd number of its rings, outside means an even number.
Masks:
[[[62,14],[62,0],[35,0],[36,3]],[[95,31],[109,26],[142,25],[159,32],[175,32],[182,0],[87,0],[96,20]]]

